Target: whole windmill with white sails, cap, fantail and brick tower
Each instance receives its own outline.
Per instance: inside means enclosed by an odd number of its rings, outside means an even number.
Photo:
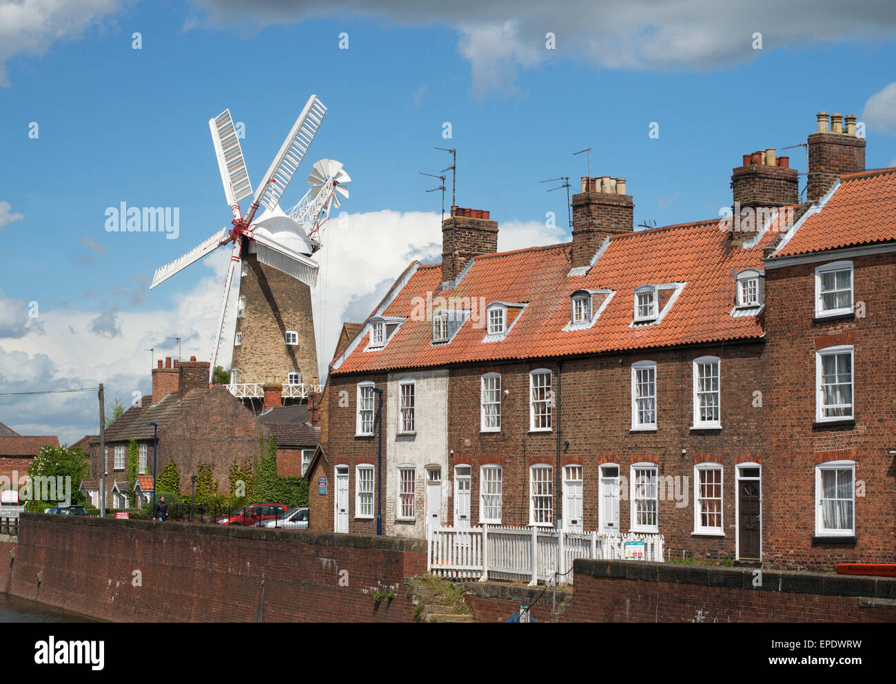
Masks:
[[[295,207],[284,212],[280,197],[325,114],[326,107],[312,95],[254,195],[230,111],[211,119],[211,139],[233,227],[222,228],[191,252],[156,269],[152,278],[150,289],[220,246],[232,244],[220,322],[212,341],[211,372],[218,360],[230,288],[238,278],[230,389],[239,398],[262,398],[265,384],[283,385],[287,397],[306,397],[310,390],[306,383],[317,376],[311,287],[318,265],[311,256],[321,248],[320,229],[330,210],[340,206],[340,195],[349,196],[345,184],[351,179],[340,162],[321,159],[308,175],[311,189]],[[253,200],[244,216],[239,202],[249,196]],[[264,210],[256,219],[260,206]]]

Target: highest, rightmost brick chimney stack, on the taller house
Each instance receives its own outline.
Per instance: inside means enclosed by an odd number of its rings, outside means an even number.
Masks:
[[[815,120],[815,133],[810,133],[807,140],[806,199],[813,202],[823,198],[840,174],[865,170],[865,138],[856,134],[856,116],[832,114],[829,119],[827,112],[819,112]]]

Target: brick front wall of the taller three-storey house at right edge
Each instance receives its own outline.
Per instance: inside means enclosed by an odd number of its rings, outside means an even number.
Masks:
[[[814,322],[814,269],[828,261],[766,271],[771,440],[763,463],[763,557],[785,568],[831,569],[838,561],[896,561],[896,256],[852,259],[857,314]],[[864,313],[865,315],[859,315]],[[815,350],[854,346],[854,425],[814,426]],[[814,537],[817,463],[856,461],[856,543]]]

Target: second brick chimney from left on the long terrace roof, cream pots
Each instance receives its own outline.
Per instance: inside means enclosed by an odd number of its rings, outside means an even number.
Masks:
[[[634,202],[625,194],[625,178],[582,176],[582,192],[573,195],[573,268],[589,266],[610,235],[634,229]]]

